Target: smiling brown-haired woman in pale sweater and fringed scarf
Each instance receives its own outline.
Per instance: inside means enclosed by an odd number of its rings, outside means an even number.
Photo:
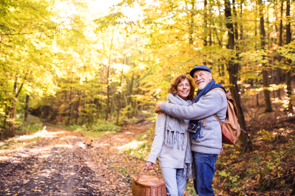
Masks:
[[[167,101],[190,106],[194,91],[193,80],[187,75],[178,75],[168,89]],[[189,120],[166,113],[157,116],[154,141],[144,167],[145,171],[151,170],[158,157],[168,196],[183,196],[188,179],[195,177],[188,124]]]

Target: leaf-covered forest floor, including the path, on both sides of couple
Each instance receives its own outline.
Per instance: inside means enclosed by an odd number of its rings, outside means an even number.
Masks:
[[[0,196],[132,196],[132,176],[147,159],[154,123],[125,125],[95,138],[44,125],[1,142]],[[251,152],[241,153],[237,142],[219,155],[216,196],[295,195],[295,115],[261,114],[248,129]],[[196,196],[192,180],[184,196]]]

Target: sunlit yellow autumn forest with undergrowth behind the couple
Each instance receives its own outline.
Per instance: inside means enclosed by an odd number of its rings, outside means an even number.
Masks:
[[[96,134],[154,120],[173,78],[207,65],[231,90],[247,131],[217,164],[220,190],[238,195],[255,181],[253,191],[294,193],[294,1],[0,2],[2,140],[40,122]],[[264,142],[265,154],[246,167],[255,169],[230,173]]]

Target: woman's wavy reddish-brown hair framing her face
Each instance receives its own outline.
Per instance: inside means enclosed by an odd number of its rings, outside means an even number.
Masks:
[[[182,82],[182,80],[184,79],[187,79],[189,81],[189,84],[190,84],[190,87],[191,87],[191,90],[189,92],[189,95],[187,96],[187,99],[188,100],[194,100],[194,94],[195,94],[195,83],[193,81],[192,78],[190,78],[189,76],[187,75],[184,75],[184,74],[180,74],[180,75],[177,75],[173,82],[170,84],[169,88],[168,88],[168,93],[171,93],[172,95],[178,95],[178,92],[177,92],[177,86],[180,82]],[[179,96],[179,95],[178,95]]]

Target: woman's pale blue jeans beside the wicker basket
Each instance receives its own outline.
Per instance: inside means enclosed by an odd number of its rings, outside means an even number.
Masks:
[[[166,181],[167,196],[183,196],[188,180],[183,176],[184,169],[161,168]]]

